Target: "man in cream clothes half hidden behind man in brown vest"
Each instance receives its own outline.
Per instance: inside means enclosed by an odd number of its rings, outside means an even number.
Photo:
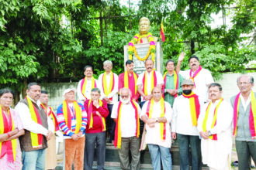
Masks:
[[[45,110],[47,117],[50,117],[51,121],[54,123],[54,135],[49,141],[47,141],[47,158],[46,158],[46,169],[55,169],[57,166],[56,158],[56,131],[59,131],[59,124],[57,123],[57,118],[55,117],[53,107],[48,106],[49,94],[45,90],[41,90],[40,102],[41,107]]]

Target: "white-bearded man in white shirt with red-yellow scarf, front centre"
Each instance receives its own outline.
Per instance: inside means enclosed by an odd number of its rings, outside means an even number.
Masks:
[[[128,88],[119,90],[120,100],[114,104],[111,117],[116,121],[114,145],[119,148],[122,169],[140,169],[140,106],[131,99]],[[129,150],[132,155],[129,165]]]

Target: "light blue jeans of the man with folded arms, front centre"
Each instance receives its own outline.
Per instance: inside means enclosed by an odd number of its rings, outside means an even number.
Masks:
[[[172,169],[170,148],[152,144],[148,144],[147,146],[150,151],[154,170],[161,170],[161,162],[164,170]]]

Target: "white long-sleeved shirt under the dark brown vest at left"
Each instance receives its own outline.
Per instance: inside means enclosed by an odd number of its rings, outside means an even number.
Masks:
[[[28,96],[29,97],[29,96]],[[33,99],[29,97],[40,109],[40,100],[35,102]],[[32,120],[31,114],[29,111],[29,107],[26,104],[19,102],[15,107],[16,113],[19,114],[20,120],[22,121],[23,128],[27,131],[31,131],[35,134],[43,134],[47,135],[48,130],[54,133],[54,123],[51,121],[50,117],[47,117],[48,129],[44,128],[41,124],[37,124],[35,121]]]

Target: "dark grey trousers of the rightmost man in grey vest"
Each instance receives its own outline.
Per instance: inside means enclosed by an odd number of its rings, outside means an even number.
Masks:
[[[251,158],[256,163],[256,142],[236,141],[238,169],[251,169]]]

